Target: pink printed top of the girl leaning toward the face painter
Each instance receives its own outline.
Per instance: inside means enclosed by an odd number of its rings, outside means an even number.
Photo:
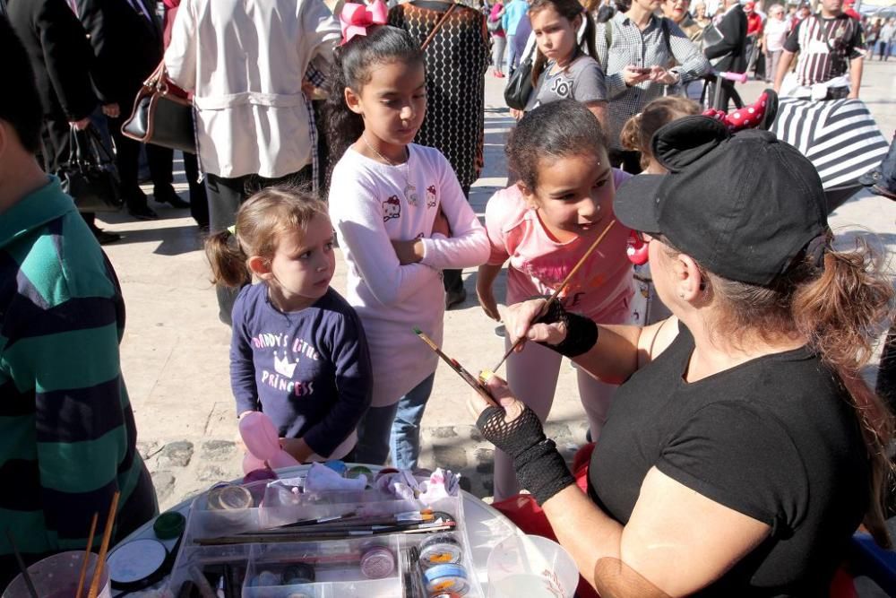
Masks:
[[[614,169],[613,183],[618,187],[630,176]],[[597,225],[598,234],[613,219],[612,208],[601,207],[607,215]],[[592,242],[574,238],[558,243],[551,238],[515,185],[488,200],[486,230],[492,247],[488,263],[510,260],[507,305],[554,292]],[[561,295],[564,308],[601,324],[628,321],[634,294],[632,264],[625,256],[628,234],[619,222],[609,230]]]

